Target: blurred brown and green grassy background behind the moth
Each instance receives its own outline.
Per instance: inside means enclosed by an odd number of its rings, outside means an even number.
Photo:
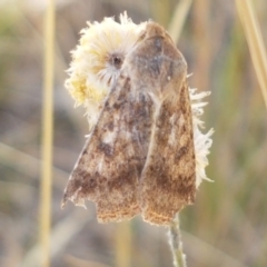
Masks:
[[[253,1],[267,43],[266,0]],[[167,229],[140,218],[99,225],[88,210],[60,201],[88,131],[82,108],[63,88],[70,53],[86,21],[125,10],[135,22],[166,28],[176,0],[58,1],[56,13],[52,264],[172,266]],[[40,266],[38,257],[43,12],[46,1],[0,1],[0,266]],[[188,266],[267,266],[267,120],[235,1],[194,0],[178,48],[190,87],[210,90],[206,129],[214,127],[207,175],[194,206],[181,212]],[[129,230],[130,229],[130,234]],[[125,235],[125,236],[123,236]],[[122,246],[120,245],[122,240]],[[128,267],[121,266],[121,267]]]

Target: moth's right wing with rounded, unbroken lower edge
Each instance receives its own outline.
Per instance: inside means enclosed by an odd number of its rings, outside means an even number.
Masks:
[[[142,216],[152,224],[169,224],[195,200],[196,165],[188,97],[184,82],[177,102],[162,102],[152,129],[141,175]]]

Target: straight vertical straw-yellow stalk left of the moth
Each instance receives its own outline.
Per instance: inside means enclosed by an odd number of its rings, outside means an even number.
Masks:
[[[41,266],[50,266],[51,176],[53,132],[53,37],[55,1],[48,1],[44,13],[43,102],[42,102],[42,167],[40,189]]]

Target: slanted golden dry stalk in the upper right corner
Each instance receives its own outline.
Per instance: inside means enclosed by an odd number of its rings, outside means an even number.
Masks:
[[[267,108],[267,56],[257,16],[251,0],[236,0],[236,6]]]

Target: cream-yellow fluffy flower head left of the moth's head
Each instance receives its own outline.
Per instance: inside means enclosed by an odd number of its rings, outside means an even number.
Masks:
[[[102,100],[145,24],[134,23],[125,12],[120,14],[120,23],[113,18],[105,18],[100,23],[88,22],[88,28],[81,30],[80,43],[72,51],[65,86],[76,100],[76,106],[87,108],[90,128],[97,122]]]

